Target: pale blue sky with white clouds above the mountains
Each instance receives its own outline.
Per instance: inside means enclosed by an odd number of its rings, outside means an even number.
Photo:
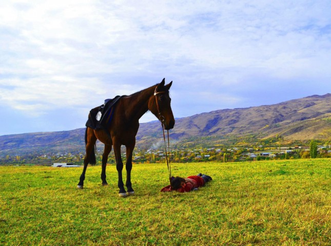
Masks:
[[[175,118],[330,93],[330,13],[329,0],[2,0],[0,135],[84,128],[104,99],[163,78]]]

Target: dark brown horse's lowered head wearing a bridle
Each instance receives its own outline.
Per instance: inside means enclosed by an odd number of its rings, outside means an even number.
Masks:
[[[162,122],[166,130],[170,130],[174,126],[174,118],[171,110],[171,98],[169,89],[172,81],[165,85],[165,79],[154,89],[154,94],[149,98],[148,109]]]

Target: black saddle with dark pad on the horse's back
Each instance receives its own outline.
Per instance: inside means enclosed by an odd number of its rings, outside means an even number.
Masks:
[[[85,126],[94,130],[106,130],[113,117],[114,106],[121,97],[115,96],[112,99],[106,99],[103,105],[91,109]]]

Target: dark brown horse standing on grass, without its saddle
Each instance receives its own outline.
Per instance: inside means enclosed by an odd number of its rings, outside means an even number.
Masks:
[[[84,169],[77,188],[83,189],[85,172],[88,163],[95,163],[94,146],[97,139],[105,144],[102,155],[102,185],[108,185],[106,181],[106,166],[108,155],[113,146],[116,169],[119,175],[119,196],[126,197],[134,194],[131,184],[132,152],[135,146],[135,135],[139,129],[139,119],[150,110],[163,124],[166,130],[174,126],[174,118],[170,107],[169,89],[172,81],[165,85],[165,79],[160,84],[151,86],[145,90],[136,92],[129,96],[122,96],[114,106],[113,118],[109,124],[108,132],[104,130],[93,130],[87,127],[85,131],[86,155],[84,158]],[[121,146],[126,147],[126,187],[122,179],[123,162],[121,157]]]

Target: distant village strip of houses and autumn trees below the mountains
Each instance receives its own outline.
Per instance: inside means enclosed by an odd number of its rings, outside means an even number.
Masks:
[[[102,148],[96,152],[96,164],[101,165]],[[242,147],[212,147],[212,148],[176,148],[167,151],[171,162],[235,162],[235,161],[259,161],[271,159],[299,159],[310,158],[309,146],[279,146],[264,147],[252,146],[250,148]],[[14,155],[0,156],[0,165],[44,165],[52,166],[53,163],[70,162],[75,165],[83,165],[84,152],[71,153],[49,153],[41,155]],[[317,157],[331,158],[331,149],[328,144],[317,146]],[[122,159],[125,161],[125,148],[122,150]],[[142,150],[135,148],[133,152],[133,163],[163,163],[166,161],[165,149]],[[113,152],[109,154],[108,164],[114,164],[115,158]]]

